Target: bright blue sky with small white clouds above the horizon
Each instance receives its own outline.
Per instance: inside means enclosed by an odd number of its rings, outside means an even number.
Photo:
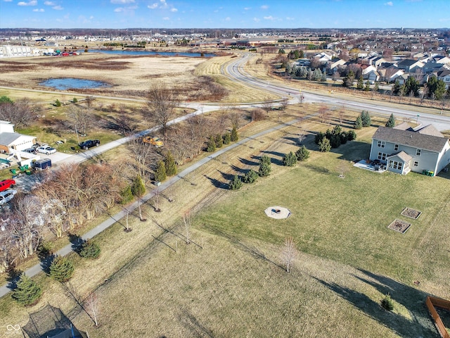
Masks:
[[[1,28],[442,28],[450,0],[0,0]]]

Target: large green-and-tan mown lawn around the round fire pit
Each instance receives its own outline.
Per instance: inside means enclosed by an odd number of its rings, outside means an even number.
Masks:
[[[314,113],[313,107],[289,110],[282,121]],[[273,115],[240,134],[250,136],[277,120]],[[373,120],[378,123],[385,121]],[[99,327],[44,276],[37,279],[45,284],[37,306],[21,308],[9,296],[0,300],[0,323],[14,318],[23,324],[27,311],[49,301],[91,337],[436,337],[424,301],[426,294],[450,297],[449,177],[354,168],[349,160],[368,156],[375,126],[319,153],[311,133],[328,127],[313,118],[252,139],[177,182],[174,202],[162,198],[161,213],[150,201],[148,221],[134,215],[132,232],[116,224],[99,235],[103,254],[97,261],[74,256],[71,283],[83,296],[96,289]],[[285,168],[281,157],[297,149],[299,134],[309,135],[304,144],[311,157]],[[238,192],[224,189],[235,173],[257,169],[262,154],[272,159],[271,176]],[[342,161],[349,166],[344,179],[338,177]],[[277,205],[289,208],[290,218],[266,218],[264,209]],[[405,234],[387,229],[403,218],[405,206],[423,214]],[[181,239],[181,215],[188,209],[198,246]],[[292,273],[281,262],[287,236],[300,251]],[[380,307],[387,293],[392,313]]]

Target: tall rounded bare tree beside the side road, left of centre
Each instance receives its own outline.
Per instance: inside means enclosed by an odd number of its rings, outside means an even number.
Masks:
[[[167,124],[174,118],[178,97],[174,89],[169,89],[162,82],[153,84],[148,90],[148,116],[162,126],[165,140],[167,139]]]

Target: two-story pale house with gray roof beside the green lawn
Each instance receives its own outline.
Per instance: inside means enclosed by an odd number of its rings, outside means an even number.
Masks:
[[[401,123],[394,128],[378,127],[372,137],[369,158],[401,175],[410,171],[437,175],[450,163],[449,149],[449,139],[432,125],[413,129]]]

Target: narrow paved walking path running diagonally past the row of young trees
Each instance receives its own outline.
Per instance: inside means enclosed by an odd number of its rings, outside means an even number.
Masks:
[[[226,148],[220,149],[218,151],[216,151],[214,154],[211,154],[210,156],[207,156],[205,158],[202,158],[200,161],[194,163],[193,165],[189,166],[188,168],[186,168],[185,170],[181,171],[181,173],[179,173],[178,175],[170,178],[169,180],[167,180],[166,182],[163,182],[160,187],[158,187],[158,189],[153,189],[151,192],[149,192],[148,194],[146,194],[145,196],[143,196],[141,198],[141,201],[135,201],[134,203],[130,204],[129,206],[127,206],[126,209],[116,213],[115,215],[110,215],[109,218],[107,218],[106,220],[104,220],[101,224],[97,225],[96,227],[94,227],[92,230],[90,230],[89,232],[86,232],[85,234],[82,235],[82,239],[86,240],[86,239],[91,239],[93,237],[95,237],[97,234],[101,233],[103,230],[107,229],[108,227],[110,227],[111,225],[113,225],[114,223],[116,223],[118,220],[121,220],[122,218],[127,216],[127,213],[132,212],[134,210],[136,210],[136,208],[138,208],[139,204],[142,204],[143,202],[148,201],[149,199],[152,199],[153,196],[155,196],[156,191],[158,190],[158,192],[162,192],[165,189],[167,189],[167,187],[170,187],[172,184],[174,184],[175,182],[183,179],[184,177],[186,177],[186,175],[192,173],[194,170],[200,168],[200,166],[204,165],[205,163],[208,163],[209,161],[213,160],[214,158],[217,158],[218,156],[220,156],[221,154],[226,153],[226,151],[230,151],[231,149],[236,148],[237,146],[240,146],[242,144],[245,144],[246,142],[249,142],[257,137],[261,137],[265,134],[269,134],[270,132],[274,132],[276,130],[281,130],[285,127],[288,127],[290,125],[294,125],[295,123],[300,122],[301,120],[310,118],[311,115],[304,117],[304,118],[299,118],[299,119],[295,119],[292,120],[288,123],[283,123],[281,125],[277,125],[275,127],[271,127],[267,130],[263,130],[262,132],[258,132],[257,134],[254,134],[252,136],[249,137],[244,137],[243,139],[240,139],[238,142],[231,144],[229,146],[226,146]],[[106,144],[105,144],[106,146]],[[80,154],[81,155],[81,154]],[[82,153],[82,155],[84,155],[83,161],[87,159],[86,157],[86,152]],[[72,161],[71,161],[72,162]],[[66,246],[63,247],[63,249],[60,249],[59,251],[56,252],[57,255],[59,256],[65,256],[68,253],[72,252],[72,244],[68,244]],[[32,266],[31,268],[25,270],[25,274],[27,276],[34,276],[37,275],[38,273],[41,273],[44,269],[45,266],[47,266],[47,264],[49,263],[49,261],[43,261],[41,263],[38,263],[34,266]],[[5,296],[6,294],[8,294],[9,292],[11,292],[11,285],[10,284],[5,284],[3,286],[0,287],[0,297]]]

